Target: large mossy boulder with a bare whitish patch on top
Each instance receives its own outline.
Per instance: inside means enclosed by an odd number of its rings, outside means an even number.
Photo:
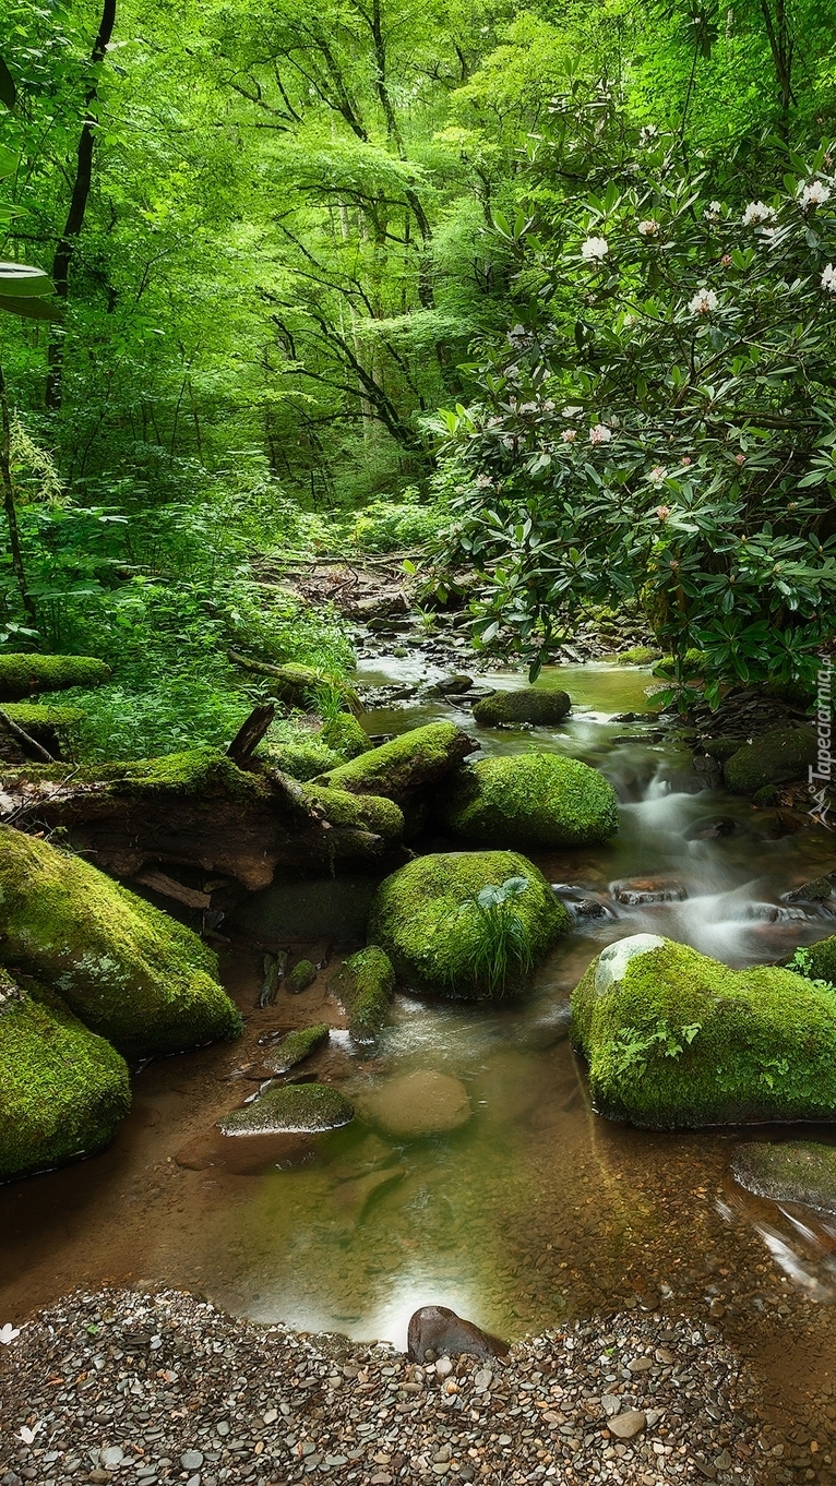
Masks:
[[[836,1119],[836,994],[634,935],[577,985],[573,1040],[599,1114],[647,1129]]]

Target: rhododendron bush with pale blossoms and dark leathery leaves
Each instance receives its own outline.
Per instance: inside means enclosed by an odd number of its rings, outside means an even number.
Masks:
[[[531,217],[500,224],[519,322],[445,415],[476,635],[536,673],[585,606],[634,597],[714,701],[805,679],[836,629],[836,152],[735,199],[622,128],[605,186],[558,190],[556,113]]]

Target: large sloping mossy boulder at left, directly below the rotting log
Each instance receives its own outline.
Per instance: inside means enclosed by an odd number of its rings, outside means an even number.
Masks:
[[[213,951],[82,857],[0,826],[0,906],[1,957],[126,1057],[239,1034]]]

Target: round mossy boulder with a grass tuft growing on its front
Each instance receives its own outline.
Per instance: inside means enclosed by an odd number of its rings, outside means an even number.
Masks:
[[[516,851],[448,851],[408,862],[381,883],[369,917],[369,942],[381,945],[397,978],[418,991],[457,1000],[519,996],[528,973],[513,957],[498,990],[478,966],[482,945],[476,895],[512,877],[528,886],[510,903],[537,963],[570,927],[570,915],[543,874]]]

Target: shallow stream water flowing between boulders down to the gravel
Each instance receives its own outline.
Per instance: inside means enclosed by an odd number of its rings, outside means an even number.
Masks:
[[[382,657],[358,679],[403,682],[418,669],[425,675],[411,657]],[[570,1314],[666,1299],[714,1302],[716,1312],[733,1311],[735,1297],[768,1311],[794,1294],[832,1299],[836,1236],[735,1187],[736,1132],[647,1134],[599,1120],[568,1046],[568,996],[613,939],[665,933],[742,966],[836,930],[824,909],[782,902],[836,865],[827,832],[785,834],[775,813],[702,788],[675,733],[613,721],[647,709],[649,679],[602,664],[553,669],[541,684],[573,697],[564,725],[480,734],[491,752],[553,749],[595,764],[622,805],[613,843],[537,854],[570,905],[598,901],[602,911],[577,915],[533,996],[504,1009],[400,996],[372,1052],[336,1034],[312,1064],[360,1109],[400,1073],[452,1074],[473,1110],[463,1128],[393,1140],[356,1119],[292,1169],[275,1159],[231,1169],[211,1155],[180,1165],[179,1152],[199,1152],[219,1114],[257,1086],[238,1074],[287,1018],[281,996],[254,1009],[260,953],[241,947],[226,976],[247,1013],[244,1048],[152,1064],[109,1152],[0,1190],[0,1318],[103,1279],[186,1285],[234,1312],[399,1345],[427,1302],[513,1337]],[[442,716],[473,727],[446,701],[376,712],[366,725],[387,734]],[[327,893],[309,893],[327,917]],[[649,895],[657,901],[641,901]],[[339,932],[323,921],[320,935],[305,933],[320,936]],[[296,1019],[320,1019],[323,979],[295,999]]]

